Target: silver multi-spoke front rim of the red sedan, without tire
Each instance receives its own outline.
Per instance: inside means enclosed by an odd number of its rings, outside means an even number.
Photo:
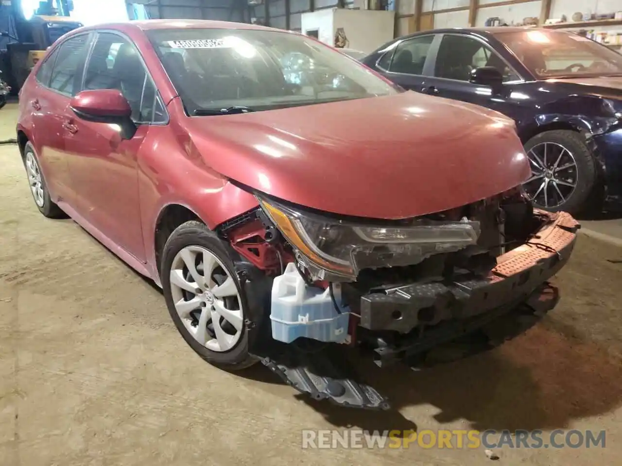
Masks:
[[[242,336],[244,313],[238,287],[213,252],[200,246],[180,250],[170,269],[175,309],[188,332],[207,349],[232,349]]]

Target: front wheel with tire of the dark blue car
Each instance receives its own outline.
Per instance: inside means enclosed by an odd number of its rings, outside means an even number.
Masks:
[[[527,141],[525,151],[532,176],[523,186],[535,207],[576,215],[597,204],[596,161],[580,133],[545,131]]]

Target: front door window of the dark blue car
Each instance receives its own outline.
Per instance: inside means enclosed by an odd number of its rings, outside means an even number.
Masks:
[[[443,35],[437,53],[434,76],[468,81],[471,71],[482,66],[496,68],[503,76],[504,82],[520,79],[498,53],[479,40],[466,35]]]

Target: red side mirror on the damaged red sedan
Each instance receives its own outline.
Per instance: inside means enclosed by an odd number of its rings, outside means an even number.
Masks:
[[[117,89],[81,91],[72,98],[69,105],[80,119],[118,125],[123,139],[132,139],[136,134],[128,99]]]

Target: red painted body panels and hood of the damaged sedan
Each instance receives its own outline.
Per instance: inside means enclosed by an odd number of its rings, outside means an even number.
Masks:
[[[188,117],[144,34],[144,29],[179,27],[232,24],[97,25],[74,30],[49,49],[89,30],[126,35],[159,89],[167,124],[139,126],[124,140],[114,126],[78,118],[69,97],[35,79],[44,60],[22,88],[17,124],[19,135],[34,145],[52,200],[156,283],[154,238],[167,206],[187,207],[210,228],[258,206],[252,193],[230,180],[323,211],[396,219],[486,198],[530,174],[509,119],[414,93]]]

